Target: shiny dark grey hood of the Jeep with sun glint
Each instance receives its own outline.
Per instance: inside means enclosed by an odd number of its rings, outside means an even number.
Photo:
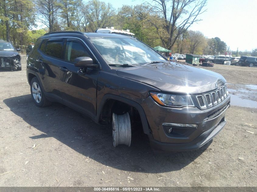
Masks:
[[[118,69],[117,75],[172,93],[204,93],[226,83],[216,72],[169,62]]]

